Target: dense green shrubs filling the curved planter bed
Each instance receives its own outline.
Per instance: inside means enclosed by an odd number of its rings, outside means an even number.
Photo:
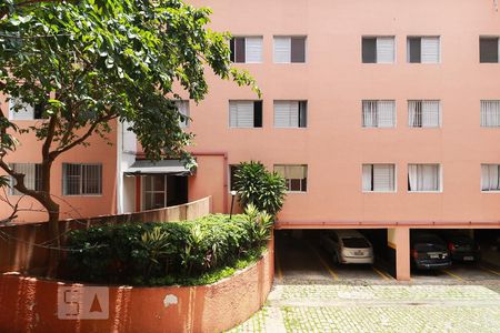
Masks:
[[[132,285],[199,284],[256,261],[272,218],[254,206],[247,214],[212,214],[196,221],[101,225],[73,230],[67,279]],[[78,251],[76,251],[78,250]],[[212,281],[214,282],[214,281]]]

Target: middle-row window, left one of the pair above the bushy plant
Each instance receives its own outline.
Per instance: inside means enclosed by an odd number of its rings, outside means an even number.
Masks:
[[[262,101],[229,101],[230,128],[261,128]]]

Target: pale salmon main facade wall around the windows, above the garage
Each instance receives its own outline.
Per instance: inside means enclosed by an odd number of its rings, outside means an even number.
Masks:
[[[214,30],[263,36],[263,63],[238,64],[263,91],[263,128],[229,129],[228,100],[257,95],[210,78],[191,130],[197,150],[227,151],[229,164],[308,164],[308,192],[288,195],[281,221],[499,220],[500,193],[480,191],[480,164],[500,163],[500,129],[480,128],[480,100],[500,99],[500,64],[479,63],[479,37],[500,34],[493,1],[189,2],[213,9]],[[274,64],[272,37],[294,34],[307,63]],[[396,36],[396,63],[362,63],[362,36]],[[408,36],[440,36],[441,62],[407,63]],[[273,128],[273,100],[288,99],[308,100],[307,129]],[[397,128],[361,128],[363,99],[396,100]],[[411,99],[441,100],[442,127],[409,128]],[[394,163],[397,192],[362,193],[363,163]],[[443,192],[409,193],[408,163],[440,163]],[[219,186],[196,181],[214,201]]]

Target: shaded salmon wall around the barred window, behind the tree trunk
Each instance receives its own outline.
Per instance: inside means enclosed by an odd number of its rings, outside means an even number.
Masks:
[[[0,98],[0,109],[8,114],[9,107],[3,98]],[[37,121],[17,121],[16,123],[26,128],[33,125]],[[116,213],[116,182],[117,182],[117,134],[116,124],[111,124],[113,131],[108,134],[110,143],[107,144],[101,138],[92,137],[89,147],[77,147],[62,153],[53,163],[51,174],[51,191],[53,198],[61,205],[61,219],[89,218],[102,214]],[[6,160],[10,163],[37,163],[41,162],[41,143],[32,133],[18,137],[21,145]],[[102,195],[62,195],[62,163],[102,163]],[[2,193],[3,195],[3,193]],[[20,196],[9,196],[14,203]],[[24,198],[21,208],[38,210],[37,201]],[[11,210],[6,203],[0,203],[0,216],[8,216]],[[2,218],[0,218],[2,219]],[[21,212],[18,222],[44,221],[44,212]]]

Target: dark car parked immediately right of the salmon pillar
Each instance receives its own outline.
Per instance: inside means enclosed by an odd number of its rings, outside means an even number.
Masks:
[[[411,264],[419,270],[439,270],[451,265],[447,243],[437,234],[413,231],[410,238]]]

